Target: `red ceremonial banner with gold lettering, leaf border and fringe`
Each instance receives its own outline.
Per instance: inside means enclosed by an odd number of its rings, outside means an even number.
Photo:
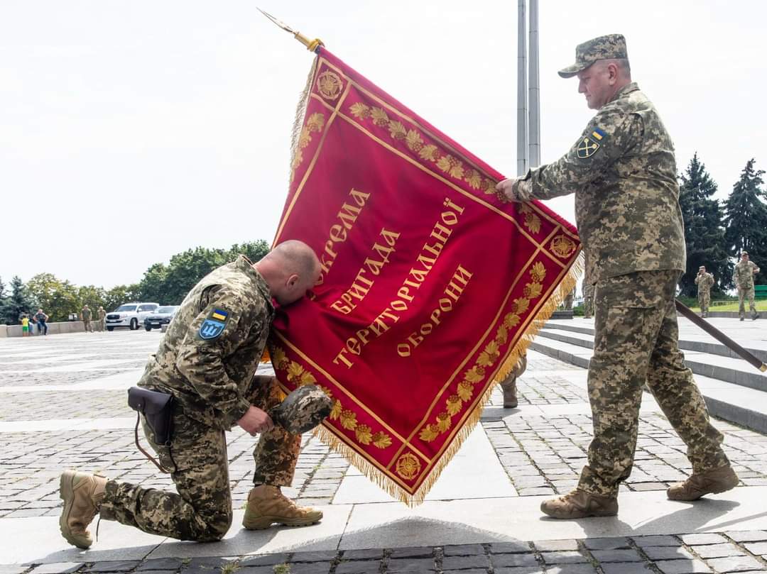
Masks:
[[[325,48],[303,105],[275,244],[311,245],[322,276],[278,313],[272,363],[334,400],[324,441],[420,503],[574,286],[578,235]]]

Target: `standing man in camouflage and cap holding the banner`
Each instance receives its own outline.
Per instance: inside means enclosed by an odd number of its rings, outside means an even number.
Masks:
[[[673,500],[735,487],[706,403],[684,364],[674,309],[685,242],[673,143],[657,110],[631,81],[626,41],[610,34],[576,48],[578,92],[597,114],[557,161],[506,179],[515,202],[575,194],[578,234],[594,281],[594,356],[588,372],[594,438],[578,488],[545,500],[555,518],[612,516],[630,474],[642,388],[647,386],[687,445],[693,474],[673,484]]]

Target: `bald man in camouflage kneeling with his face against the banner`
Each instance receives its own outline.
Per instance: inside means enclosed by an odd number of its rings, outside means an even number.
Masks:
[[[304,297],[320,274],[314,251],[285,241],[252,264],[241,255],[212,271],[189,292],[170,323],[139,385],[176,399],[170,444],[144,433],[178,494],[66,471],[61,476],[66,540],[93,542],[87,526],[100,512],[107,520],[178,540],[220,540],[232,523],[225,431],[239,425],[261,433],[255,448],[255,486],[243,526],[304,526],[322,513],[298,507],[280,492],[292,482],[300,435],[275,428],[266,411],[280,400],[274,377],[255,376],[275,309]]]

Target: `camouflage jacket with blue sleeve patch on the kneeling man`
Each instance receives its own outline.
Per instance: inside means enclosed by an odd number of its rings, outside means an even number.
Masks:
[[[189,291],[139,386],[170,392],[185,415],[229,430],[250,407],[245,393],[273,318],[265,280],[240,255]]]

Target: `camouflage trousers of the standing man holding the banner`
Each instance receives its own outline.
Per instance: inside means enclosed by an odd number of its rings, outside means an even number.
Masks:
[[[594,356],[588,370],[594,438],[581,472],[582,490],[614,496],[629,476],[645,383],[687,445],[693,472],[729,464],[723,435],[711,425],[679,349],[674,307],[679,275],[640,271],[597,283]]]

